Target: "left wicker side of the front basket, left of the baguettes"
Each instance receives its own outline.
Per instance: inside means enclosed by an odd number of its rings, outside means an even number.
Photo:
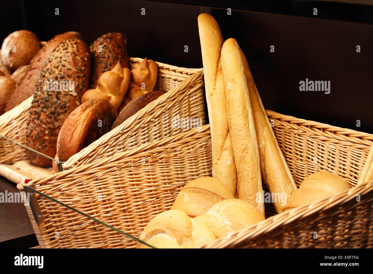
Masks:
[[[211,170],[210,127],[206,125],[199,132],[194,129],[180,133],[32,182],[40,192],[140,237],[154,215],[172,206],[185,183],[211,176]],[[22,185],[18,185],[20,190]],[[45,221],[31,223],[40,235],[40,246],[135,246],[134,240],[106,226],[43,196],[37,195],[37,199]]]

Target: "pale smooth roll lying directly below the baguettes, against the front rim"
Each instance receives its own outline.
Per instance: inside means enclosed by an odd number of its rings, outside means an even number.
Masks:
[[[194,218],[206,224],[216,238],[228,237],[232,232],[264,219],[257,207],[239,199],[218,202],[206,214]]]

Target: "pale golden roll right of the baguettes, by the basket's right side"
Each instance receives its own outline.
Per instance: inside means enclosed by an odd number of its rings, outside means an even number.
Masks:
[[[350,184],[341,176],[329,171],[316,172],[305,178],[299,189],[291,194],[283,212],[331,197],[349,188]]]

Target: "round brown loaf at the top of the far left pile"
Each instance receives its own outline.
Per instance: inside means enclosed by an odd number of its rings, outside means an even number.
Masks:
[[[15,71],[20,66],[28,65],[40,50],[40,41],[31,31],[25,29],[9,34],[1,45],[1,57],[4,66]]]

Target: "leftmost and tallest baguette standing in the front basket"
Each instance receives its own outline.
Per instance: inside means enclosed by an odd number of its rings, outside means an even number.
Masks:
[[[237,171],[228,127],[225,84],[220,62],[220,51],[224,40],[219,25],[207,13],[198,16],[198,31],[211,130],[212,174],[229,189],[232,195],[235,195]]]

